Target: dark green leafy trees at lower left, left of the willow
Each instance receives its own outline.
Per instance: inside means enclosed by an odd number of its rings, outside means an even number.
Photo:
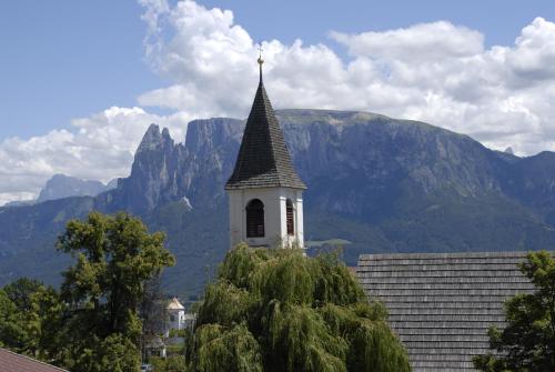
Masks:
[[[61,291],[20,279],[0,290],[0,345],[73,372],[138,371],[145,284],[174,263],[162,233],[129,214],[70,221],[75,257]]]

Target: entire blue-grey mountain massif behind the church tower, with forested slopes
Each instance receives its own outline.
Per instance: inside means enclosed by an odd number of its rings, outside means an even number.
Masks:
[[[279,110],[304,193],[311,253],[537,250],[555,243],[555,153],[521,158],[424,122],[327,110]],[[152,124],[131,174],[97,197],[0,208],[0,284],[20,275],[59,283],[54,249],[72,218],[93,209],[140,215],[163,230],[178,264],[168,291],[199,292],[229,249],[223,185],[243,120],[189,123],[184,142]]]

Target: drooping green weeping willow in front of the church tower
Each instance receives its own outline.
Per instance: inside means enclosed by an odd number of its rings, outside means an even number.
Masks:
[[[208,285],[188,348],[191,371],[410,371],[381,303],[335,255],[231,250]]]

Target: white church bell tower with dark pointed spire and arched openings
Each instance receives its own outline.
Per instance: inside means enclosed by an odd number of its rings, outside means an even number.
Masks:
[[[304,248],[303,191],[262,81],[246,120],[233,174],[225,184],[230,199],[232,247]]]

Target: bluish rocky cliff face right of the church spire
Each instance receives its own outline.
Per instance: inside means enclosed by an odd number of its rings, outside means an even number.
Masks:
[[[369,113],[280,114],[314,208],[380,218],[403,194],[472,197],[498,190],[495,157],[465,135]]]

